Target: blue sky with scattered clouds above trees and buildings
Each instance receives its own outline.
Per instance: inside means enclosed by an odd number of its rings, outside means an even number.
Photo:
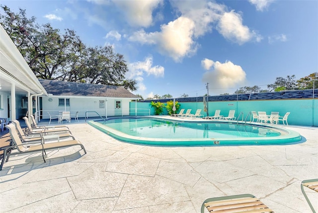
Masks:
[[[1,0],[124,55],[144,98],[267,89],[318,72],[317,0]]]

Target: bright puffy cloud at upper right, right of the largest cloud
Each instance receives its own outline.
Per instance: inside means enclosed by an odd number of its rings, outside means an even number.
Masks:
[[[255,31],[250,31],[247,26],[242,24],[242,17],[239,13],[225,12],[218,23],[218,31],[227,39],[243,44],[247,41],[254,40],[259,42],[262,37]]]

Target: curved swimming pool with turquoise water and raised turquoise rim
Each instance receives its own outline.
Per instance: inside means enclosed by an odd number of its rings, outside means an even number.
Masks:
[[[259,124],[180,121],[154,117],[109,118],[90,125],[116,139],[149,145],[268,145],[301,140],[298,132]]]

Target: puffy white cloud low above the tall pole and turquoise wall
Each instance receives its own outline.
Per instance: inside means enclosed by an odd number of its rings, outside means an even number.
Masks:
[[[223,89],[226,92],[227,88],[233,88],[236,85],[240,85],[246,80],[246,73],[239,66],[233,64],[231,61],[226,61],[225,63],[221,63],[219,61],[212,61],[209,59],[204,59],[201,63],[205,61],[208,64],[212,64],[210,68],[211,70],[205,72],[203,74],[202,81],[209,82],[211,88]],[[203,63],[202,65],[206,65],[207,63]],[[212,89],[213,90],[213,89]]]

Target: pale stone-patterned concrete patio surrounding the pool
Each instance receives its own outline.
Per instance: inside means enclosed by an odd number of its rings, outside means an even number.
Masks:
[[[0,213],[199,213],[205,199],[236,194],[275,213],[311,212],[300,183],[318,178],[318,128],[286,127],[304,137],[293,145],[161,147],[121,142],[85,122],[69,127],[87,154],[49,151],[46,163],[40,153],[10,156]]]

